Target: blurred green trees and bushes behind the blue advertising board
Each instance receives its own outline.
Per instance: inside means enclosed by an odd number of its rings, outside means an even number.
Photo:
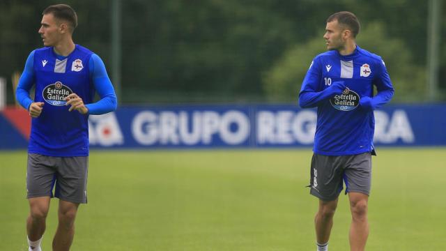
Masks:
[[[98,54],[108,73],[112,73],[110,1],[65,3],[75,8],[79,16],[75,43]],[[423,68],[427,1],[128,0],[121,3],[120,100],[124,103],[265,98],[291,102],[302,82],[301,71],[305,73],[312,58],[325,50],[320,33],[325,19],[340,10],[350,10],[360,18],[364,30],[358,37],[359,44],[385,59],[397,88],[395,100],[420,100],[426,89]],[[8,82],[13,72],[23,70],[29,52],[43,46],[37,31],[41,12],[50,4],[54,1],[0,2],[0,76],[7,77]],[[442,18],[445,23],[444,13]],[[443,25],[442,39],[445,30]],[[445,45],[441,46],[445,54]],[[438,75],[444,75],[445,71],[446,57],[441,56]],[[290,78],[286,80],[286,76]],[[439,84],[443,91],[446,82]],[[8,85],[8,102],[12,100]]]

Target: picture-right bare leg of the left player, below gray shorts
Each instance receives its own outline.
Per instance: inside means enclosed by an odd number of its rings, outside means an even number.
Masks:
[[[54,251],[68,251],[75,236],[75,218],[79,204],[59,200],[59,225],[53,240]]]

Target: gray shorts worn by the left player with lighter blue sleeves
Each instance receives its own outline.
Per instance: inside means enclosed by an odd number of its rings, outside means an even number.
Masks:
[[[74,203],[86,203],[88,169],[88,156],[52,157],[29,153],[26,170],[27,198],[49,196]]]

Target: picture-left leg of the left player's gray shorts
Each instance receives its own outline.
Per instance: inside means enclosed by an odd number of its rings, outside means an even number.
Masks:
[[[29,153],[26,167],[27,198],[52,197],[55,181],[54,159],[45,155]]]

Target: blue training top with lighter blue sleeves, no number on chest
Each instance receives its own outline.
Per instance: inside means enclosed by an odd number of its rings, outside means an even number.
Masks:
[[[34,100],[29,98],[36,86]],[[97,92],[98,102],[93,102]],[[68,112],[65,98],[76,93],[89,109],[88,114]],[[76,45],[68,56],[53,47],[33,50],[26,59],[16,91],[25,109],[32,102],[44,102],[40,116],[32,119],[29,153],[57,157],[89,155],[89,114],[105,114],[116,109],[116,94],[100,57]]]

